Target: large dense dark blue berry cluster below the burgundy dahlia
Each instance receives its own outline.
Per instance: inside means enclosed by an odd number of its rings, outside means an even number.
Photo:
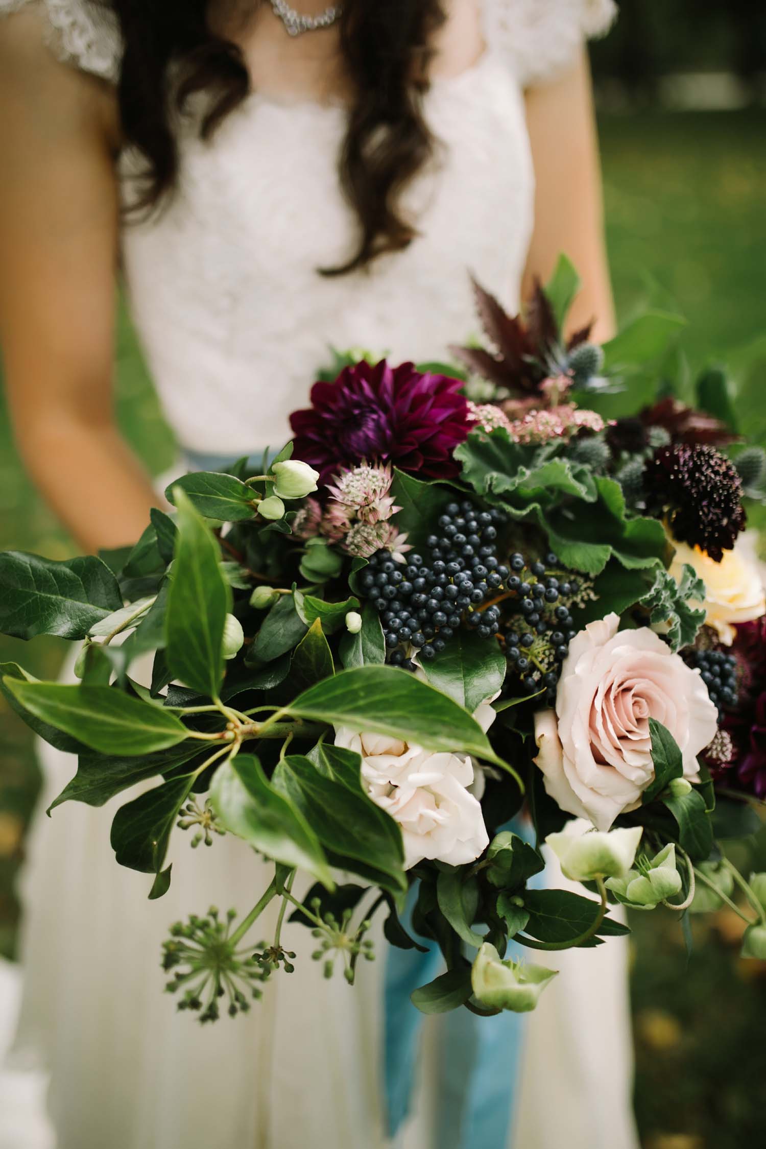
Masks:
[[[396,563],[387,550],[371,557],[362,586],[380,615],[388,662],[413,669],[411,648],[433,658],[464,620],[481,638],[497,634],[501,608],[478,608],[501,593],[510,577],[496,554],[497,531],[506,523],[501,510],[449,503],[424,555],[410,554],[405,563]]]

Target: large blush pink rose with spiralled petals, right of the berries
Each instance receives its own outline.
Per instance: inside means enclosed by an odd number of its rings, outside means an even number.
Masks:
[[[535,715],[536,764],[562,810],[609,830],[635,810],[653,780],[649,719],[671,732],[683,774],[699,772],[697,755],[718,727],[699,671],[653,631],[619,631],[619,616],[589,623],[570,643],[556,710]]]

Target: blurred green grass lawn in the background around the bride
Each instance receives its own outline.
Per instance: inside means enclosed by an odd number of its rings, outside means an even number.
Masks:
[[[694,369],[726,360],[766,329],[766,115],[645,113],[602,116],[599,128],[620,317],[650,301],[672,308],[689,319],[682,346]],[[125,434],[160,471],[172,460],[172,440],[122,310],[117,377]],[[0,547],[72,554],[23,472],[1,399],[0,460]],[[0,661],[21,661],[37,676],[53,677],[63,646],[0,638]],[[14,882],[37,770],[23,724],[0,710],[0,951],[13,954]],[[766,869],[763,845],[752,846]],[[737,959],[735,931],[726,919],[696,926],[701,944],[687,964],[672,915],[635,917],[636,1110],[643,1144],[766,1144],[764,965]]]

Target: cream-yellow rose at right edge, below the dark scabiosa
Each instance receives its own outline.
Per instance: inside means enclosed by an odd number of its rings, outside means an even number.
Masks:
[[[734,641],[734,623],[749,623],[766,614],[764,586],[756,563],[748,555],[748,537],[733,550],[725,550],[720,563],[714,562],[699,547],[672,540],[675,547],[671,574],[680,581],[683,564],[694,566],[705,584],[705,622],[718,631],[726,646]],[[697,606],[697,603],[694,603]]]

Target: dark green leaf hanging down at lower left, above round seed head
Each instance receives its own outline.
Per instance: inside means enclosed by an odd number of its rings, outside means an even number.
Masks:
[[[119,865],[160,874],[170,834],[193,782],[194,774],[186,774],[121,805],[111,823],[111,848]],[[170,885],[169,873],[160,882],[155,881],[149,896],[161,896],[163,885],[165,889]]]

